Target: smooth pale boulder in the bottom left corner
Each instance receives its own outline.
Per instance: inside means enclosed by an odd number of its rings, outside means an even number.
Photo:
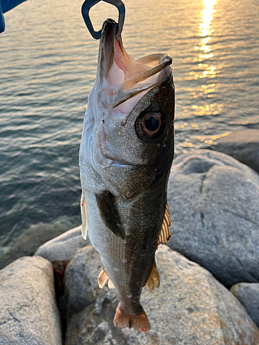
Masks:
[[[0,271],[0,344],[61,345],[53,268],[21,257]]]

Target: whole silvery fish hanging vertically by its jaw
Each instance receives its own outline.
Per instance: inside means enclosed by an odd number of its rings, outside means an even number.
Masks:
[[[171,237],[167,183],[174,153],[175,87],[172,58],[135,60],[116,38],[117,23],[102,26],[97,76],[88,96],[79,149],[82,235],[102,262],[119,305],[113,324],[149,331],[142,288],[158,288],[155,250]]]

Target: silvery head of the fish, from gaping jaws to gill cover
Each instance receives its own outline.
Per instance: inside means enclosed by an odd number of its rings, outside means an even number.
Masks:
[[[109,190],[128,198],[157,177],[168,178],[175,91],[171,57],[153,54],[135,60],[122,37],[115,37],[116,30],[113,19],[104,22],[81,149],[88,151],[90,164]]]

